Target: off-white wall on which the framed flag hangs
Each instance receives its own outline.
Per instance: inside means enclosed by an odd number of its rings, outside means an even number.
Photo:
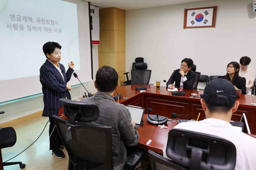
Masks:
[[[252,0],[212,0],[126,11],[126,71],[136,57],[152,70],[150,83],[161,86],[191,58],[204,75],[225,75],[227,64],[242,56],[256,69],[256,14]],[[183,29],[184,9],[217,6],[215,28]],[[130,74],[129,74],[130,76]]]

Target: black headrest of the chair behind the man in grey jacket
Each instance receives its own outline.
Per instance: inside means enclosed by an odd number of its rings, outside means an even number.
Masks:
[[[92,122],[99,118],[99,108],[94,103],[85,103],[61,98],[64,106],[64,115],[69,118],[70,123],[74,121]]]

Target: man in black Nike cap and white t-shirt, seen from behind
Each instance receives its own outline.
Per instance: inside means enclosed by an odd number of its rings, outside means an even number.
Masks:
[[[236,112],[239,101],[236,101],[236,90],[233,84],[225,79],[209,82],[201,98],[206,118],[201,121],[180,123],[174,128],[219,136],[236,146],[235,170],[253,170],[256,167],[256,139],[238,131],[230,124],[232,113]],[[166,156],[166,144],[163,156]]]

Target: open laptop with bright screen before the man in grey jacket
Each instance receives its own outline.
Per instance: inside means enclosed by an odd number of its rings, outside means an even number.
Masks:
[[[134,129],[136,130],[143,124],[142,118],[143,118],[145,109],[143,109],[141,107],[137,107],[137,106],[131,106],[131,105],[127,105],[125,107],[131,113],[132,121],[134,121],[134,123],[135,123]]]

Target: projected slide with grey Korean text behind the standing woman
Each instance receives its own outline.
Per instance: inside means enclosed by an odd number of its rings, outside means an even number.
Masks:
[[[80,70],[77,5],[60,0],[0,0],[1,80],[39,75],[48,41],[61,46],[60,63]],[[39,81],[39,80],[38,80]]]

